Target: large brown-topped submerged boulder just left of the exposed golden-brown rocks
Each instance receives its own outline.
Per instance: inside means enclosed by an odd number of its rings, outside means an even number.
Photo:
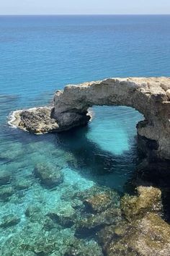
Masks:
[[[104,226],[117,223],[121,218],[120,195],[108,187],[93,186],[83,192],[77,192],[73,200],[81,200],[81,218],[76,221],[76,236],[94,235]]]

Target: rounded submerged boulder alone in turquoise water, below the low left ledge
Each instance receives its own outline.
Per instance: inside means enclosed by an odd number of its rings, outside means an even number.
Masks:
[[[34,168],[34,174],[46,187],[55,187],[63,182],[61,168],[51,163],[38,163]]]

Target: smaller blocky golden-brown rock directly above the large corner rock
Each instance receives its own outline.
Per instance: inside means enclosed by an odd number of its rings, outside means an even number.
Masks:
[[[160,212],[161,190],[155,187],[137,187],[138,196],[125,195],[120,206],[125,218],[141,218],[146,212]]]

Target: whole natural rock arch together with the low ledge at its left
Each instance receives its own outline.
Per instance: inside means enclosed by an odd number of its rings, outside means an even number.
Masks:
[[[146,147],[152,158],[170,159],[169,90],[170,78],[166,77],[109,78],[81,85],[67,85],[64,90],[55,93],[54,106],[48,114],[50,118],[46,119],[43,115],[40,118],[39,114],[31,110],[27,115],[21,111],[15,115],[17,121],[14,119],[11,123],[35,133],[53,130],[61,132],[86,124],[90,119],[87,113],[91,106],[130,106],[145,118],[137,125],[140,144]],[[32,125],[35,124],[32,119],[36,120],[37,125],[40,124],[38,129]],[[51,121],[55,125],[49,128]]]

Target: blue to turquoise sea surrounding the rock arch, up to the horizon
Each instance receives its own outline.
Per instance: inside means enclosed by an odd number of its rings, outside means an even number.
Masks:
[[[71,195],[92,186],[125,192],[138,158],[135,126],[143,119],[133,108],[94,106],[87,127],[30,135],[9,127],[9,114],[50,104],[64,85],[169,72],[169,15],[0,17],[0,172],[11,175],[0,186],[0,255],[22,255],[22,239],[31,244],[53,230],[60,247],[55,255],[64,255],[63,239],[74,236],[73,226],[44,231],[45,216],[53,208],[73,210],[81,202]],[[63,183],[43,187],[32,174],[37,163],[59,166]],[[39,209],[34,221],[25,215],[31,207]],[[19,221],[1,225],[9,214]],[[97,246],[93,239],[86,243]],[[53,249],[38,253],[23,255],[52,255]]]

